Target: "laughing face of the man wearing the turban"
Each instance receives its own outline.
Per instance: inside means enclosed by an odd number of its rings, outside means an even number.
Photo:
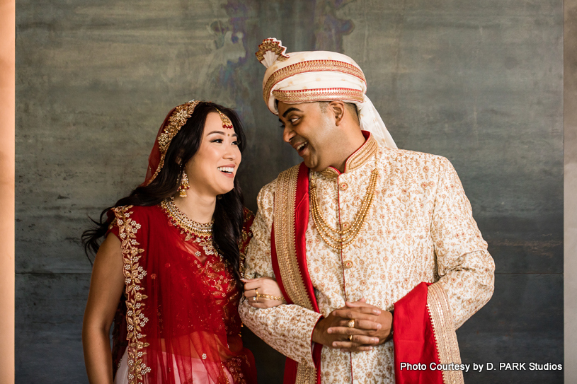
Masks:
[[[304,164],[315,172],[333,165],[335,129],[331,111],[321,110],[319,103],[278,103],[282,123],[282,139],[302,157]],[[334,166],[334,165],[333,165]]]

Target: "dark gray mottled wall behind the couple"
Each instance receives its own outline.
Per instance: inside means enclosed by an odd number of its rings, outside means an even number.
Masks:
[[[16,381],[86,383],[90,264],[79,235],[142,182],[166,112],[236,108],[241,182],[299,161],[261,98],[253,52],[336,50],[365,71],[399,147],[449,158],[496,261],[493,299],[459,331],[465,362],[563,361],[561,0],[18,1]],[[282,357],[251,334],[261,383]],[[467,383],[561,383],[562,372],[468,373]]]

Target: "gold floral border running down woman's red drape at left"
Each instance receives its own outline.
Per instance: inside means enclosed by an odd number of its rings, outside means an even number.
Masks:
[[[144,382],[144,375],[150,372],[150,368],[143,362],[142,356],[146,354],[144,348],[149,343],[143,339],[146,334],[142,333],[142,327],[147,323],[148,318],[144,317],[142,307],[144,299],[148,296],[142,291],[141,281],[147,272],[139,266],[140,254],[144,252],[139,249],[136,241],[136,233],[140,224],[130,219],[129,211],[132,205],[119,206],[113,209],[118,225],[118,235],[122,243],[122,262],[124,264],[124,276],[126,286],[126,322],[128,334],[127,354],[128,354],[128,383],[140,384]]]

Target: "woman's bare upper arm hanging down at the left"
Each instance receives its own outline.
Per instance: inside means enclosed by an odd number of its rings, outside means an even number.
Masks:
[[[84,362],[91,384],[113,383],[112,352],[108,335],[124,290],[124,279],[120,240],[110,234],[94,260],[82,324]]]

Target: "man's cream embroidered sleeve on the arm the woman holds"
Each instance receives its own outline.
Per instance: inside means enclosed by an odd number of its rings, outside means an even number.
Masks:
[[[274,219],[275,182],[258,193],[258,211],[251,227],[253,238],[246,254],[246,279],[275,277],[270,261],[270,232]],[[312,331],[321,315],[307,308],[281,305],[253,308],[241,299],[239,313],[244,324],[270,347],[299,363],[314,366]]]

